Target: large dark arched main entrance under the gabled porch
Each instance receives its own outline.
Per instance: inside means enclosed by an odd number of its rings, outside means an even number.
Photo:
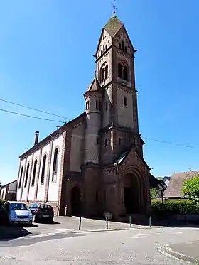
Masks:
[[[139,168],[129,167],[124,173],[123,201],[127,214],[139,214],[146,207],[146,185]]]

